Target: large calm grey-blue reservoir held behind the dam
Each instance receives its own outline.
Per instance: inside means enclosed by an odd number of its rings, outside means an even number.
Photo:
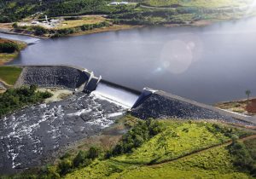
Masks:
[[[151,26],[34,39],[10,64],[68,64],[135,90],[166,90],[207,104],[256,94],[256,18],[211,26]]]

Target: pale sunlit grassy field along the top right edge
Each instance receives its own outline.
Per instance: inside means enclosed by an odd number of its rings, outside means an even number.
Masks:
[[[145,0],[144,3],[155,7],[165,6],[187,6],[187,7],[204,7],[204,8],[222,8],[243,6],[253,0]]]

